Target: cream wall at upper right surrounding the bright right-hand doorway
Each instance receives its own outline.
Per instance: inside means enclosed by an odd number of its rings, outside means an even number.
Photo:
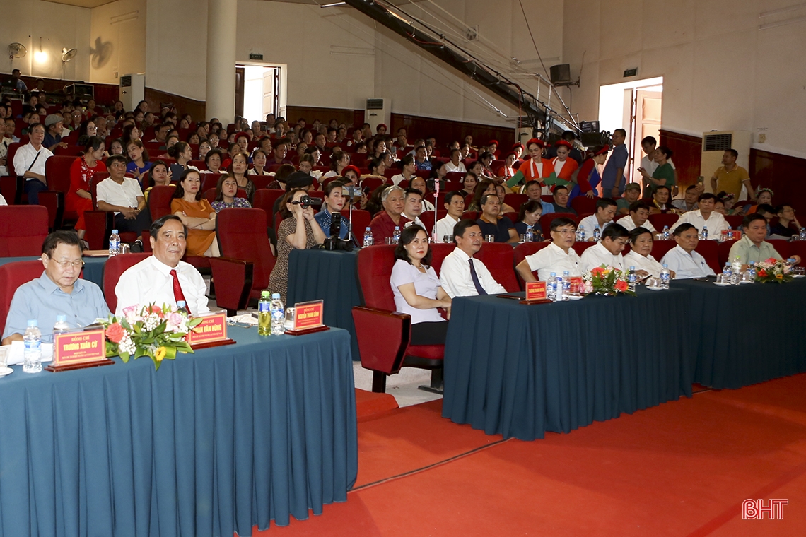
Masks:
[[[806,15],[792,0],[565,0],[563,57],[583,119],[598,117],[600,85],[663,76],[663,129],[750,130],[754,147],[806,156],[806,23],[759,30]],[[758,130],[767,140],[758,142]]]

